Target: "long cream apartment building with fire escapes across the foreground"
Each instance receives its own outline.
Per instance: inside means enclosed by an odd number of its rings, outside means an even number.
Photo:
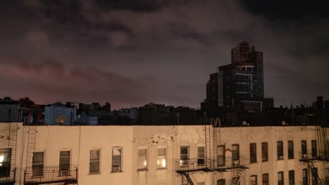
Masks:
[[[328,142],[318,132],[0,123],[0,184],[325,184]]]

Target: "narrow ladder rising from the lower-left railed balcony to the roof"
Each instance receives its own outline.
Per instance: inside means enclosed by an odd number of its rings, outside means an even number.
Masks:
[[[28,131],[27,131],[27,156],[26,156],[26,166],[25,166],[27,168],[32,167],[36,134],[37,134],[37,125],[30,125],[29,123]]]

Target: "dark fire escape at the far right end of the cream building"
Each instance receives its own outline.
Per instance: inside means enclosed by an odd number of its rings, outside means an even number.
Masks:
[[[307,163],[309,174],[311,174],[312,184],[328,184],[318,174],[316,161],[328,162],[329,161],[329,148],[328,148],[328,135],[326,131],[326,122],[323,120],[318,121],[316,126],[316,144],[312,143],[311,152],[303,153],[299,161]],[[309,178],[308,178],[309,179]]]

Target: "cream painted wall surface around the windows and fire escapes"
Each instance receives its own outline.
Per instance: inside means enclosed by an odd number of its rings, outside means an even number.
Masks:
[[[9,123],[0,123],[0,149],[8,148]],[[316,126],[280,126],[280,127],[238,127],[214,128],[211,131],[211,148],[225,145],[226,163],[232,163],[232,145],[239,144],[240,163],[248,167],[243,171],[240,184],[250,184],[250,177],[257,176],[257,184],[262,184],[262,174],[269,174],[269,184],[278,184],[278,172],[283,172],[284,184],[289,184],[288,172],[295,171],[295,184],[302,184],[302,170],[307,163],[302,158],[302,140],[307,141],[307,152],[311,155],[311,140],[317,140]],[[28,126],[18,125],[18,143],[16,153],[16,184],[22,184],[27,152]],[[217,132],[217,139],[214,138]],[[283,142],[283,158],[278,160],[277,142]],[[288,141],[294,144],[294,158],[288,159]],[[214,144],[214,142],[216,142]],[[262,142],[267,142],[268,161],[262,161]],[[257,160],[250,163],[250,143],[256,144]],[[112,172],[112,149],[122,147],[121,172]],[[178,185],[182,177],[176,173],[179,167],[181,146],[189,146],[188,158],[198,158],[198,146],[205,146],[204,125],[165,125],[165,126],[115,126],[115,125],[44,125],[37,126],[34,151],[44,151],[44,166],[58,166],[60,151],[70,151],[70,164],[77,165],[78,183],[111,185]],[[24,149],[24,150],[23,150]],[[100,150],[100,172],[89,173],[90,151]],[[138,149],[147,149],[147,169],[138,170]],[[157,149],[165,149],[165,167],[157,169]],[[216,152],[211,151],[215,159]],[[208,156],[209,158],[209,156]],[[325,168],[329,165],[314,160],[321,179],[325,179]],[[199,172],[191,174],[197,184],[217,184],[225,179],[232,184],[236,175],[234,170],[227,172]],[[311,174],[309,174],[311,184]],[[323,182],[324,183],[324,182]]]

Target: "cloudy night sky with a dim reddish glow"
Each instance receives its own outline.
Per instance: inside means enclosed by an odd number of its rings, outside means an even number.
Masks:
[[[0,97],[200,107],[248,41],[275,105],[329,99],[326,1],[0,1]]]

